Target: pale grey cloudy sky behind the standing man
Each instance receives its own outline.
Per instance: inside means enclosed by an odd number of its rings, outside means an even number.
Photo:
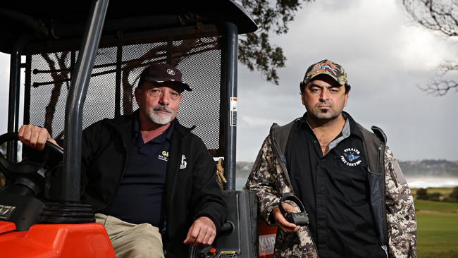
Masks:
[[[395,0],[316,0],[304,4],[283,47],[280,85],[239,66],[237,161],[254,161],[272,122],[302,116],[299,81],[311,63],[331,59],[345,67],[352,91],[345,109],[370,128],[378,125],[401,160],[458,160],[458,93],[433,97],[418,89],[457,42],[414,25]],[[6,132],[9,57],[0,54],[0,133]]]

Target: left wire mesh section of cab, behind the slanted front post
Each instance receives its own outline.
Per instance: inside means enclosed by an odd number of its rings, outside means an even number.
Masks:
[[[102,62],[110,59],[116,48],[99,49],[94,61],[93,74],[104,72],[110,67],[97,68]],[[73,53],[78,58],[78,52]],[[65,109],[70,78],[75,61],[72,53],[47,53],[32,56],[32,75],[30,88],[30,123],[47,128],[54,138],[63,137]],[[112,70],[114,70],[111,67]],[[83,112],[83,128],[103,118],[114,117],[114,84],[115,73],[93,76],[87,90]]]

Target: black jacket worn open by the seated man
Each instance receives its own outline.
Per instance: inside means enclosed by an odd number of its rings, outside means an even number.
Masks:
[[[82,202],[94,211],[107,207],[118,188],[132,145],[135,114],[104,119],[82,133]],[[175,120],[169,150],[163,235],[166,257],[187,257],[190,226],[208,216],[220,228],[227,207],[216,183],[216,164],[204,142]],[[146,204],[145,204],[146,205]]]

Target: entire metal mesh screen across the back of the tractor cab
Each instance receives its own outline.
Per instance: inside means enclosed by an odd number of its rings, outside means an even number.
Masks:
[[[116,109],[120,115],[135,111],[134,90],[143,68],[149,63],[168,62],[182,71],[183,81],[192,87],[192,92],[183,92],[180,123],[196,125],[193,132],[206,147],[221,152],[220,41],[219,36],[169,37],[167,41],[151,39],[149,43],[98,49],[87,90],[83,129],[103,118],[113,118]],[[44,126],[55,138],[63,137],[66,99],[77,57],[78,51],[32,55],[31,69],[26,71],[30,73],[30,123]]]

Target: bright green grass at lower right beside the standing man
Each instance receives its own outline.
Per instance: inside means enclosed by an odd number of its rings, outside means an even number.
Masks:
[[[416,200],[419,258],[458,257],[458,204]]]

